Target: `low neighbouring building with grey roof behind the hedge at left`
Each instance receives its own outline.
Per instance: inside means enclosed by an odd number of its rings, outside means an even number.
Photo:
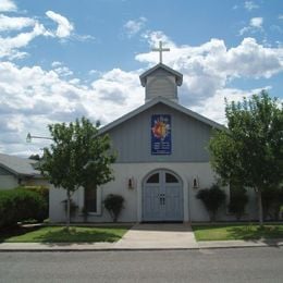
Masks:
[[[38,161],[0,153],[0,189],[20,185],[46,185],[47,182],[35,169]]]

